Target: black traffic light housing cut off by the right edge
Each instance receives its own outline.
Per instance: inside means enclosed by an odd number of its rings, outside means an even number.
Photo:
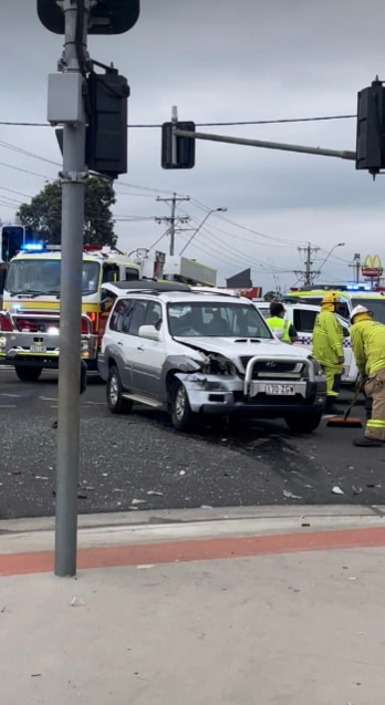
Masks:
[[[373,176],[385,168],[385,87],[378,80],[358,93],[355,168]]]

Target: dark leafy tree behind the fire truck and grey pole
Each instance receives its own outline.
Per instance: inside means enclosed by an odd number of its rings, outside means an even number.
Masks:
[[[87,245],[110,245],[114,247],[117,236],[111,206],[115,203],[115,191],[110,182],[90,176],[85,185],[84,242]],[[60,180],[45,184],[44,188],[22,204],[17,214],[21,225],[30,226],[34,232],[46,237],[51,245],[60,245],[62,231],[62,186]]]

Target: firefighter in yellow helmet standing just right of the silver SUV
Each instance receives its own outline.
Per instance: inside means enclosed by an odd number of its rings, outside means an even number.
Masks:
[[[342,413],[335,406],[341,387],[344,363],[343,329],[335,315],[340,297],[329,291],[322,299],[321,311],[313,328],[313,355],[319,361],[326,377],[326,414]]]

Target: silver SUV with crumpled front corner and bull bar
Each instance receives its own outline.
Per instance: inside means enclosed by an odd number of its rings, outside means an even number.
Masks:
[[[174,282],[111,287],[98,372],[113,414],[136,402],[166,408],[177,431],[206,414],[318,427],[326,394],[318,362],[278,340],[251,301]]]

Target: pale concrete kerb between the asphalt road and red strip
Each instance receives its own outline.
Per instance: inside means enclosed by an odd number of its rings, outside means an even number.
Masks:
[[[385,527],[385,507],[227,507],[80,515],[79,549]],[[0,521],[1,553],[52,551],[54,517]]]

